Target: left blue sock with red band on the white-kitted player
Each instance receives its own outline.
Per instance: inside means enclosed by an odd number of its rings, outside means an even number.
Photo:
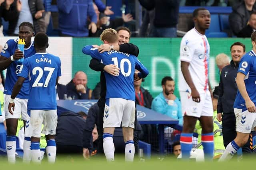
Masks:
[[[190,157],[190,151],[192,149],[192,136],[193,133],[181,133],[180,135],[182,159],[189,159]]]

